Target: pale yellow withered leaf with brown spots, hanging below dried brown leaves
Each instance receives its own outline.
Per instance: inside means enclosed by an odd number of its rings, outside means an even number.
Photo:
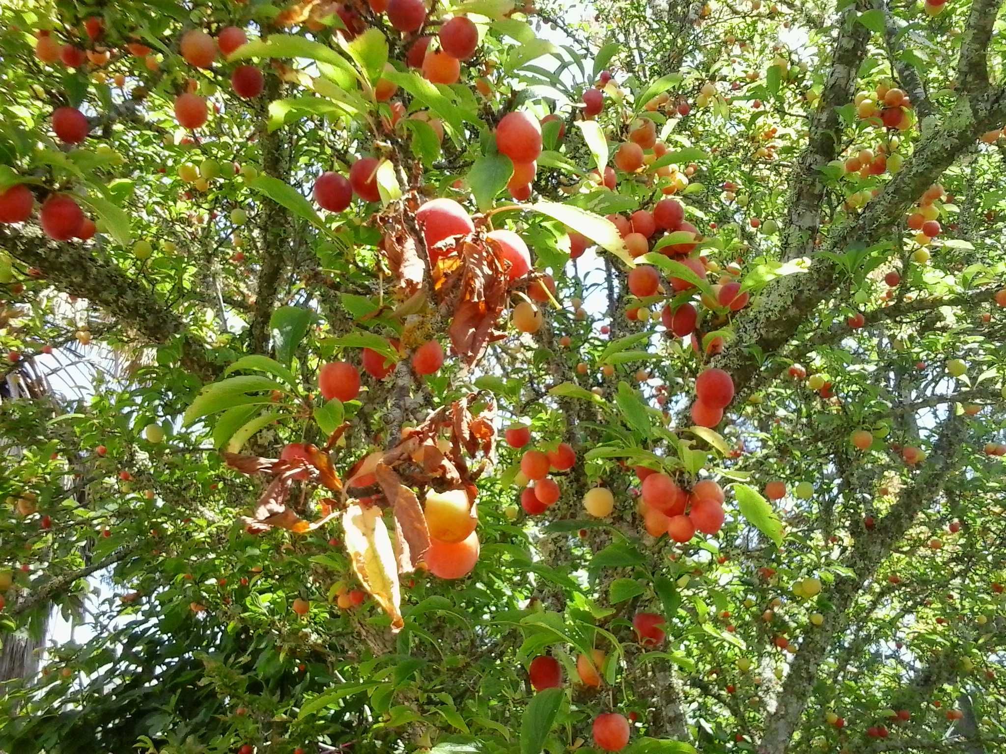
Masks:
[[[391,630],[401,630],[398,566],[380,509],[351,505],[342,514],[342,528],[353,572],[391,618]]]

